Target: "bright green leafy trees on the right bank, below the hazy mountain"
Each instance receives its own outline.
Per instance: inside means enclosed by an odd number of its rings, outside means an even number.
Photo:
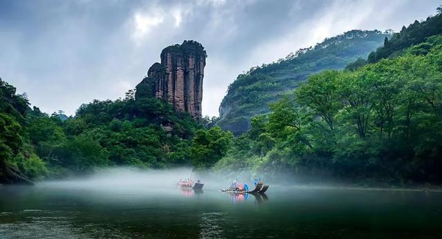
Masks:
[[[270,108],[217,168],[442,182],[442,35],[401,57],[312,75]]]

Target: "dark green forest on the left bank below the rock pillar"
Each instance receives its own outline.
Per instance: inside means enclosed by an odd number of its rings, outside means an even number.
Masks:
[[[135,99],[133,90],[125,99],[83,104],[74,117],[66,117],[30,109],[26,97],[0,83],[1,168],[15,166],[32,179],[114,165],[208,167],[233,140],[231,133],[205,129],[159,99]]]

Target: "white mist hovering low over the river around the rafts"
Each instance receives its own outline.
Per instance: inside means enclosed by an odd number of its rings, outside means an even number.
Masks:
[[[37,182],[39,189],[61,189],[88,193],[112,193],[131,195],[177,195],[177,182],[191,178],[201,180],[204,191],[220,191],[229,187],[233,180],[247,183],[253,189],[253,178],[260,178],[270,184],[269,191],[310,188],[310,189],[352,189],[352,190],[407,190],[441,191],[440,188],[427,187],[385,187],[378,184],[355,185],[354,182],[342,182],[327,176],[294,175],[293,173],[251,171],[195,171],[188,167],[175,169],[138,169],[135,167],[113,167],[97,169],[90,175],[78,175],[64,180]]]

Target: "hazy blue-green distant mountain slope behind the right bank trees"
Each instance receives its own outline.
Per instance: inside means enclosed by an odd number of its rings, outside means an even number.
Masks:
[[[238,75],[220,105],[218,126],[238,135],[250,128],[250,118],[269,112],[269,103],[298,88],[311,74],[325,69],[343,69],[366,57],[390,34],[378,30],[351,30],[325,39],[314,47],[300,49],[285,59],[263,64]]]

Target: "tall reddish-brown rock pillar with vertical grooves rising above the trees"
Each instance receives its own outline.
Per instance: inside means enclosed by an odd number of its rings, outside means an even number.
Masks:
[[[198,42],[168,46],[161,52],[161,63],[153,64],[148,76],[137,85],[135,98],[164,99],[175,110],[200,118],[204,66],[206,51]]]

